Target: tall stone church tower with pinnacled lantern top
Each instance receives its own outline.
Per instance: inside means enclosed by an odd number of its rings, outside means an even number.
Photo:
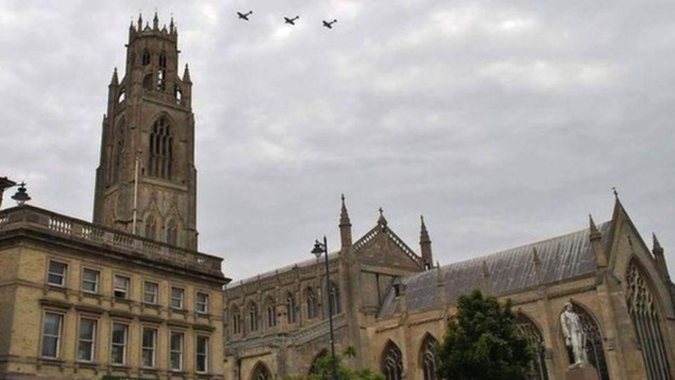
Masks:
[[[171,19],[129,26],[127,66],[108,87],[93,221],[191,250],[197,248],[192,82],[178,75]]]

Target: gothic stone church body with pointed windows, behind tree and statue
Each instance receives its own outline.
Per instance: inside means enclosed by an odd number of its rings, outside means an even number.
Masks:
[[[381,212],[381,211],[380,211]],[[321,262],[233,282],[225,290],[225,377],[258,380],[309,374],[329,350],[329,308],[338,350],[353,347],[354,368],[388,380],[436,379],[433,347],[463,293],[510,298],[519,327],[539,347],[530,379],[566,379],[572,363],[560,325],[567,302],[579,316],[598,379],[672,379],[675,288],[663,248],[651,251],[619,199],[609,221],[472,260],[432,264],[422,221],[420,255],[380,213],[352,242],[344,205],[341,247]],[[330,305],[330,306],[329,306]]]

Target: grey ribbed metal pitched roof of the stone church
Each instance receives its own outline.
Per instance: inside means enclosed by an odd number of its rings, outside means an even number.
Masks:
[[[603,246],[607,246],[611,225],[611,221],[598,224]],[[589,234],[589,228],[586,228],[401,278],[400,283],[405,284],[406,289],[407,309],[412,311],[438,306],[439,276],[442,286],[445,287],[447,304],[454,302],[463,293],[482,289],[486,283],[493,294],[535,287],[539,285],[535,271],[535,250],[541,263],[539,270],[543,284],[593,273],[595,255]],[[485,269],[487,278],[484,275]],[[380,307],[379,316],[391,316],[398,311],[399,298],[394,289],[391,289]]]

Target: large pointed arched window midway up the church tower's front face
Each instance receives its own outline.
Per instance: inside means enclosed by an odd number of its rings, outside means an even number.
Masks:
[[[174,160],[174,138],[169,120],[162,116],[150,132],[149,174],[152,177],[172,179]]]

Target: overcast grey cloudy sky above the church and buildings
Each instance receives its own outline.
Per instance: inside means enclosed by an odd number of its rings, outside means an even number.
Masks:
[[[447,264],[607,220],[612,186],[675,273],[675,1],[2,0],[0,176],[30,204],[91,220],[107,85],[156,7],[228,277],[338,248],[342,192],[354,239],[382,206],[418,251],[423,214]]]

